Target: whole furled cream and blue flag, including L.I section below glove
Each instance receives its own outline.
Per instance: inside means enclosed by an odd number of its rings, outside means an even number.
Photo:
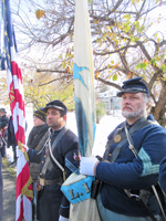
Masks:
[[[80,151],[82,156],[90,157],[95,138],[96,114],[87,0],[75,0],[73,80]],[[70,221],[100,221],[96,201],[91,198],[94,179],[72,173],[63,183],[61,190],[71,202]]]

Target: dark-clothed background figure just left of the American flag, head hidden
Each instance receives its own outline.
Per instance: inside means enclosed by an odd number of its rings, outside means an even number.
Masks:
[[[17,139],[14,135],[12,116],[9,117],[9,124],[8,124],[8,148],[10,146],[12,146],[12,151],[13,151],[13,161],[10,164],[10,167],[14,167],[17,166],[17,152],[15,152]]]

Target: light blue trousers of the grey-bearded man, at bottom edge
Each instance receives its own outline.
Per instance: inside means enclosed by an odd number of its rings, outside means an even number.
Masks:
[[[127,217],[124,214],[118,214],[115,212],[112,212],[111,210],[107,210],[103,207],[102,200],[101,200],[101,194],[97,197],[97,206],[98,206],[98,212],[101,215],[102,221],[152,221],[149,217]],[[155,215],[157,221],[164,221],[164,218],[160,215]]]

